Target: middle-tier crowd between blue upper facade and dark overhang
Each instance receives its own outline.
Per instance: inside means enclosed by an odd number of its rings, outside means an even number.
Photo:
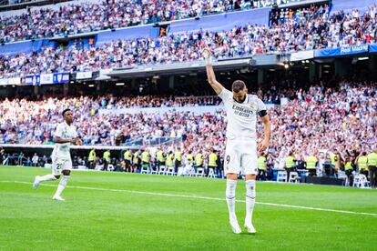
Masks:
[[[32,54],[0,55],[2,77],[40,73],[92,71],[126,65],[160,65],[201,59],[209,45],[214,57],[288,53],[377,41],[377,5],[369,12],[336,13],[328,17],[327,5],[288,15],[281,24],[244,25],[230,31],[186,32],[158,38],[117,40],[99,47],[76,43],[45,47]]]

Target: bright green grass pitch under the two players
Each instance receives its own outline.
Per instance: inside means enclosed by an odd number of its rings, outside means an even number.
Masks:
[[[48,173],[0,166],[0,250],[377,248],[377,190],[258,183],[257,234],[235,235],[228,222],[225,180],[73,172],[62,195],[66,201],[60,202],[51,199],[56,181],[32,189],[34,177]],[[243,181],[237,199],[241,225]]]

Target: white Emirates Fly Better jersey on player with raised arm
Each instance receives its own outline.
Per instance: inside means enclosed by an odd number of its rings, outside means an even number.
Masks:
[[[237,102],[232,92],[223,88],[219,97],[222,99],[227,111],[227,138],[256,139],[257,116],[260,111],[266,110],[266,105],[257,95],[247,95],[245,101]]]

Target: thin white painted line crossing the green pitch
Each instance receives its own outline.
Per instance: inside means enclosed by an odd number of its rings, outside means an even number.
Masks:
[[[8,181],[8,180],[0,181],[0,183],[15,183],[15,184],[27,184],[27,185],[33,184],[32,182]],[[56,186],[56,185],[40,184],[39,186]],[[123,192],[123,193],[130,193],[130,194],[142,194],[142,195],[150,195],[150,196],[169,196],[169,197],[182,197],[182,198],[196,198],[196,199],[225,201],[224,198],[216,198],[216,197],[208,197],[208,196],[175,195],[175,194],[166,194],[166,193],[155,193],[155,192],[146,192],[146,191],[137,191],[137,190],[127,190],[127,189],[99,188],[99,187],[90,187],[90,186],[67,186],[67,187],[76,188],[76,189],[85,189],[85,190],[97,190],[97,191]],[[236,200],[236,201],[245,203],[244,200]],[[294,206],[294,205],[268,203],[268,202],[256,202],[256,204],[267,205],[267,206],[290,207],[290,208],[305,209],[305,210],[325,211],[325,212],[333,212],[333,213],[341,213],[341,214],[351,214],[351,215],[377,216],[376,213],[363,213],[363,212],[336,210],[336,209],[311,207],[311,206]]]

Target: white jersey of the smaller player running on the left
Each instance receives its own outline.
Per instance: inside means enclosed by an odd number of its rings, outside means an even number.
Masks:
[[[61,139],[74,139],[77,137],[76,126],[68,126],[66,122],[60,123],[56,127],[55,136],[58,136]],[[56,143],[51,156],[62,159],[70,159],[70,146],[71,143]]]

